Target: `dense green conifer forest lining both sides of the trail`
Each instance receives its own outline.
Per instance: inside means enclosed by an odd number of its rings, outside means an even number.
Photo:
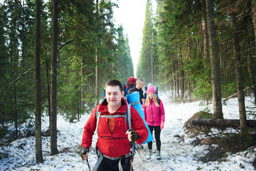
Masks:
[[[176,101],[213,103],[216,119],[223,119],[222,99],[237,93],[246,128],[244,89],[256,98],[256,0],[156,2],[153,13],[147,1],[136,78]],[[15,125],[10,141],[37,137],[40,162],[42,115],[51,120],[53,155],[57,113],[79,121],[99,103],[107,80],[135,76],[128,35],[113,22],[117,6],[111,0],[1,1],[0,139],[9,125]]]

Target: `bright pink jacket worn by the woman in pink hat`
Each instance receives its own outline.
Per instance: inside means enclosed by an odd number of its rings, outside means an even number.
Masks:
[[[145,100],[144,100],[142,106],[144,109],[145,120],[147,121],[148,125],[160,126],[161,121],[165,120],[164,105],[162,104],[161,100],[160,100],[159,107],[155,106],[153,99],[149,99],[149,105],[147,107],[145,107]]]

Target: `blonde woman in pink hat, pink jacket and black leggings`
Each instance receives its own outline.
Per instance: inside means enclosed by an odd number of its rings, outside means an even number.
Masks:
[[[164,105],[160,99],[157,99],[156,92],[153,86],[148,86],[147,89],[147,99],[143,101],[143,109],[145,120],[147,121],[149,130],[151,134],[155,130],[156,139],[156,150],[157,150],[157,160],[161,160],[161,140],[160,133],[161,129],[164,128]],[[152,152],[152,141],[148,143],[149,154],[147,159],[151,159]]]

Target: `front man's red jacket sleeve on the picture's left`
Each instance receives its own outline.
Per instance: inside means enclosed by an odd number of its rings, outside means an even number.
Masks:
[[[97,107],[94,109],[94,111],[92,111],[90,118],[87,120],[87,123],[84,126],[82,148],[85,146],[90,148],[92,145],[92,136],[94,135],[96,129],[96,111]]]

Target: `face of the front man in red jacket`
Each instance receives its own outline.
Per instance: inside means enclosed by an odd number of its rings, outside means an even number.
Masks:
[[[119,86],[107,86],[105,88],[106,99],[111,107],[119,107],[121,99],[124,97],[124,91],[120,91]]]

